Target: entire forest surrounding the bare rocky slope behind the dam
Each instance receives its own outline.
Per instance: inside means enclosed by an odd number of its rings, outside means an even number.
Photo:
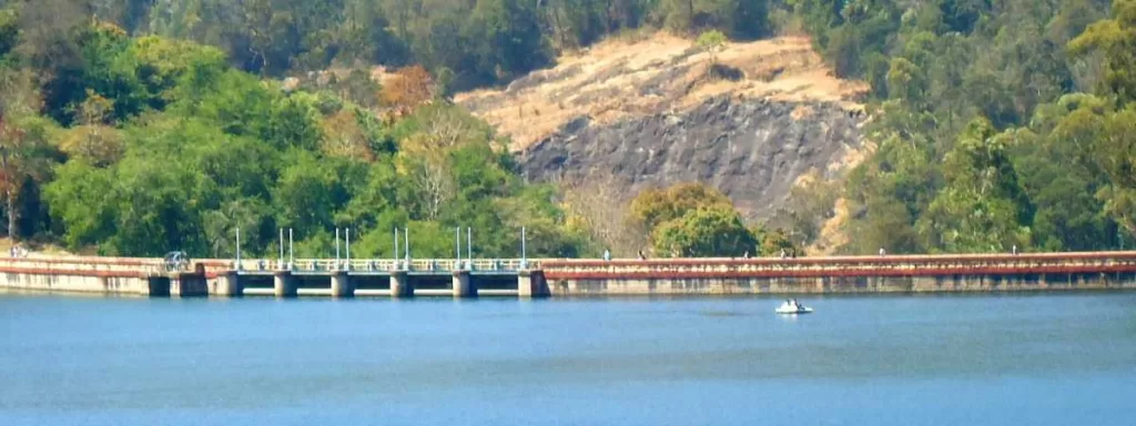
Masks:
[[[0,0],[6,229],[112,254],[578,256],[610,245],[450,93],[630,32],[812,36],[870,83],[847,252],[1088,250],[1136,232],[1136,1]],[[400,69],[379,86],[374,65]],[[323,69],[344,73],[304,78]],[[300,76],[283,86],[278,78]],[[393,112],[392,112],[393,111]],[[822,198],[813,191],[802,198]],[[644,193],[661,256],[793,249],[698,186]],[[669,201],[668,201],[669,200]],[[825,203],[799,202],[815,228]],[[811,206],[812,208],[804,208]],[[830,204],[829,204],[830,206]],[[792,229],[791,229],[792,231]],[[804,235],[810,232],[791,232]],[[1127,240],[1126,240],[1127,239]],[[808,241],[795,241],[807,243]],[[629,254],[629,253],[620,253]]]

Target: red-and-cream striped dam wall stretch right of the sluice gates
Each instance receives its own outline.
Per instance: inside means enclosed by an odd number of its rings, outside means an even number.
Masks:
[[[553,295],[1002,292],[1136,289],[1136,253],[569,260]]]

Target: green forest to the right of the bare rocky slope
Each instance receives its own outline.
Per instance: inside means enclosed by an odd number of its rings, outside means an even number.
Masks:
[[[846,250],[1130,248],[1136,1],[902,5],[797,5],[875,97],[878,150],[845,187]]]

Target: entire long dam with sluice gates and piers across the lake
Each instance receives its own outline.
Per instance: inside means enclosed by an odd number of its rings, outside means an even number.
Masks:
[[[1134,290],[1136,251],[684,259],[0,258],[0,289],[141,296],[608,296]]]

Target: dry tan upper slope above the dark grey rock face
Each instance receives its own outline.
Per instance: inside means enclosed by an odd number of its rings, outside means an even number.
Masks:
[[[807,37],[728,43],[715,59],[736,72],[733,80],[710,78],[710,53],[686,39],[611,40],[562,57],[554,68],[533,72],[504,90],[461,93],[456,101],[511,136],[512,149],[521,151],[582,116],[603,126],[686,111],[722,94],[860,109],[855,100],[867,90],[834,77]]]

